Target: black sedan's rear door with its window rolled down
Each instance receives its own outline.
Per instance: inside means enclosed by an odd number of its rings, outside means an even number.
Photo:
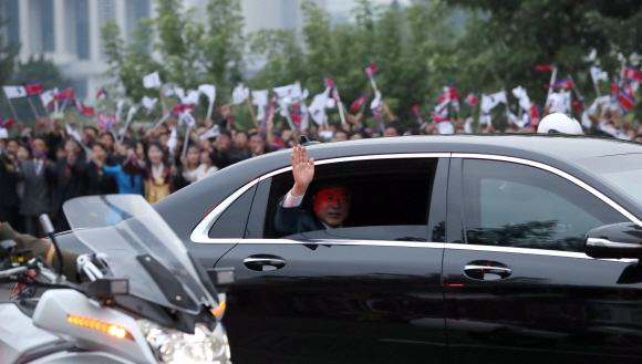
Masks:
[[[315,162],[314,178],[352,171],[350,179],[355,180],[364,171],[376,181],[390,177],[372,174],[381,164],[405,168],[401,159],[365,159],[350,164],[350,158],[343,158],[328,163],[330,169],[322,167],[328,160]],[[413,160],[417,165],[410,163],[407,170],[432,168],[429,180],[412,185],[414,193],[394,194],[411,194],[396,197],[408,210],[429,206],[427,219],[420,225],[345,227],[270,238],[270,200],[281,194],[273,191],[281,176],[259,183],[245,239],[217,263],[236,268],[237,282],[227,293],[225,316],[235,363],[445,362],[441,271],[448,158]],[[283,174],[291,176],[291,170]],[[413,194],[420,209],[411,206]],[[370,217],[376,219],[372,210],[376,201],[360,201],[366,205],[360,218],[367,219],[364,211],[371,210]]]

